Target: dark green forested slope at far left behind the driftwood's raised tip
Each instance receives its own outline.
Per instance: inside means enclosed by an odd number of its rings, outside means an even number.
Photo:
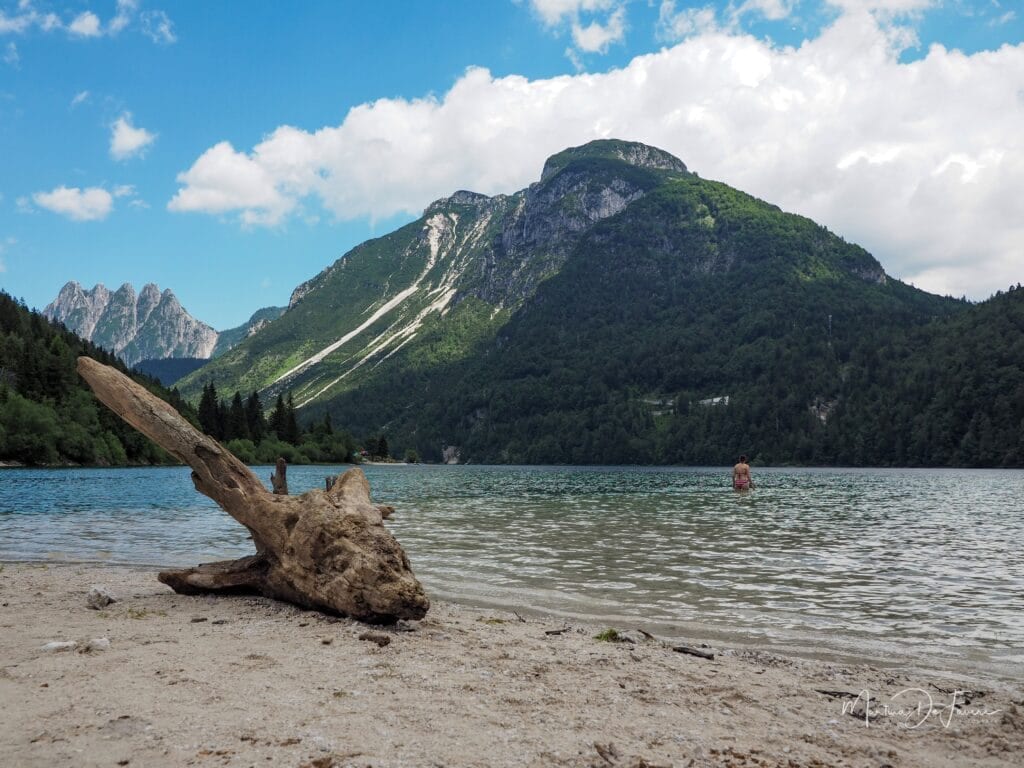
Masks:
[[[113,354],[0,292],[0,461],[176,463],[96,400],[75,371],[80,355],[129,374],[195,421],[195,412],[173,390],[130,374]]]

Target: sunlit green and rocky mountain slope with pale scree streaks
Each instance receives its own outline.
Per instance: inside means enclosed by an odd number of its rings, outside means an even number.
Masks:
[[[633,165],[612,157],[636,147]],[[599,142],[512,196],[456,193],[423,217],[365,243],[293,294],[269,327],[181,381],[195,397],[293,391],[300,406],[380,378],[396,354],[418,368],[469,355],[494,336],[572,244],[666,179],[686,175],[667,153]],[[438,336],[440,338],[438,338]]]

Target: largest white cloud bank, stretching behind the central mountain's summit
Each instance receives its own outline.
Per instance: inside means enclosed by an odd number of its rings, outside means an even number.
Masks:
[[[617,137],[810,216],[923,288],[981,297],[1021,281],[1024,44],[901,62],[893,40],[856,12],[799,47],[719,30],[604,74],[471,69],[439,98],[210,147],[169,208],[249,224],[310,206],[380,219],[459,188],[513,191],[547,156]]]

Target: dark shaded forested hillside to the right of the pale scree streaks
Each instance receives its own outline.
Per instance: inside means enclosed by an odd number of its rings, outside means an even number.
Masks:
[[[1022,297],[931,296],[678,180],[596,226],[479,354],[329,409],[474,461],[1021,466]]]

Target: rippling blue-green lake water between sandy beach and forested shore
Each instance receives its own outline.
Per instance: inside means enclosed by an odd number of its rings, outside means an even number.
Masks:
[[[290,468],[292,492],[331,471]],[[748,494],[709,469],[367,473],[438,597],[803,651],[1024,663],[1024,472],[761,470]],[[186,469],[0,472],[0,559],[190,565],[250,550]]]

